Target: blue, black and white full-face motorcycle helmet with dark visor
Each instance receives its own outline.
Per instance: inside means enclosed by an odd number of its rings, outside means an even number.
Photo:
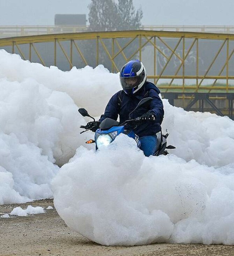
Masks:
[[[139,60],[131,60],[121,68],[119,78],[124,92],[133,95],[146,81],[145,67]]]

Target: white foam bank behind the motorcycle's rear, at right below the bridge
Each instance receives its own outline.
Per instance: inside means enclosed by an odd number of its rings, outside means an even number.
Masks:
[[[173,154],[200,164],[221,167],[234,162],[234,121],[208,112],[187,112],[163,100],[162,130],[168,129]]]

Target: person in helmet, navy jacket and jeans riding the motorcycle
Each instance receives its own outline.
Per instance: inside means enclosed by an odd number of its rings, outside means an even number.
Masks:
[[[120,70],[119,78],[123,90],[111,97],[104,115],[101,115],[100,122],[96,122],[96,126],[94,126],[94,122],[89,122],[86,129],[91,128],[95,132],[99,124],[107,117],[117,120],[119,115],[120,123],[140,117],[142,122],[133,131],[139,136],[140,149],[144,151],[145,156],[153,155],[157,145],[156,133],[161,131],[164,115],[162,100],[159,97],[160,90],[146,80],[145,67],[139,60],[127,62]],[[153,98],[150,105],[131,113],[140,100],[146,97]],[[154,121],[152,121],[152,117],[154,117]]]

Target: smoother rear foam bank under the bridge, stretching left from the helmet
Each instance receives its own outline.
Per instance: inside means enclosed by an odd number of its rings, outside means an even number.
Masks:
[[[73,67],[70,72],[63,72],[54,66],[48,68],[39,63],[22,61],[19,55],[10,55],[4,50],[0,52],[0,79],[20,83],[25,79],[33,80],[51,90],[66,92],[77,106],[87,107],[93,116],[100,115],[110,95],[121,89],[119,76],[110,73],[103,65],[81,69]]]

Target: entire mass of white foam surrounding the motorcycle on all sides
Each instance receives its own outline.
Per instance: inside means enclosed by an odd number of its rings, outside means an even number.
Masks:
[[[79,134],[78,107],[99,116],[119,89],[103,66],[62,72],[0,50],[0,204],[54,196],[69,227],[104,245],[234,244],[234,122],[163,100],[173,154],[144,157],[125,135],[81,146],[93,135]]]

